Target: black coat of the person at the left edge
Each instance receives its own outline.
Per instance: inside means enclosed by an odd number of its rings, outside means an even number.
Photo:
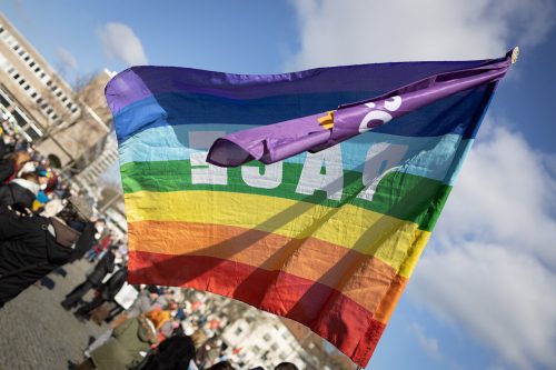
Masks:
[[[0,213],[0,307],[79,252],[58,243],[51,224],[43,217]]]

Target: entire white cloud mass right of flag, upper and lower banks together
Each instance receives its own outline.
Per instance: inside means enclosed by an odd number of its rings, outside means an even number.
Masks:
[[[556,179],[546,159],[493,129],[469,153],[409,289],[520,369],[556,368]]]

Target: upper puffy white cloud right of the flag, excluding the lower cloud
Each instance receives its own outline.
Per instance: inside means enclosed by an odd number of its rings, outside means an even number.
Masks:
[[[554,158],[507,129],[494,129],[485,139],[471,149],[436,237],[443,246],[466,236],[513,252],[526,249],[556,270],[554,243],[547,243],[556,242],[556,179],[547,167]]]

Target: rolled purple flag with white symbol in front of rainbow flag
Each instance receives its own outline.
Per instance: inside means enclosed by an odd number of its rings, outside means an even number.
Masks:
[[[477,68],[434,74],[398,87],[385,96],[344,104],[334,111],[331,129],[320,124],[319,118],[327,116],[321,112],[229,133],[212,144],[207,161],[236,167],[256,159],[270,164],[304,151],[320,151],[435,101],[496,82],[506,74],[509,64],[510,53],[506,59],[496,59]],[[451,109],[451,104],[447,104],[446,113]],[[476,112],[461,111],[459,114],[464,121],[466,116],[475,116]],[[427,121],[430,119],[427,118]]]

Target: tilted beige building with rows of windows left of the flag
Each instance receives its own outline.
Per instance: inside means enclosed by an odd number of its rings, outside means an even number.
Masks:
[[[103,71],[73,91],[0,13],[2,119],[52,162],[71,168],[101,151],[111,120],[99,86],[109,78]]]

